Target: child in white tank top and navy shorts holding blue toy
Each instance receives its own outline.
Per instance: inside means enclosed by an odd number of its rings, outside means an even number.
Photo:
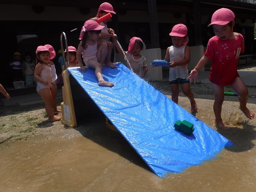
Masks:
[[[187,64],[190,62],[190,48],[187,46],[187,27],[184,24],[177,24],[172,28],[169,34],[172,37],[173,46],[166,50],[165,60],[170,62],[169,81],[172,90],[172,101],[178,104],[178,95],[180,93],[179,84],[183,94],[189,99],[191,112],[198,110],[194,94],[190,90],[190,82],[187,80]]]

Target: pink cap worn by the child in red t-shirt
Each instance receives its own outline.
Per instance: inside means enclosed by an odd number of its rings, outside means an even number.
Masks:
[[[234,20],[235,20],[235,14],[230,9],[221,8],[212,14],[212,20],[211,20],[211,23],[208,25],[208,27],[214,24],[226,25],[230,21],[234,21]]]

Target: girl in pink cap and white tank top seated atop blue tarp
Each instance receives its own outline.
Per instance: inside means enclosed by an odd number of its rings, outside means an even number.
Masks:
[[[114,84],[105,81],[102,76],[103,62],[107,56],[108,47],[106,43],[97,43],[99,34],[103,26],[100,26],[96,21],[85,21],[82,27],[80,38],[82,41],[79,43],[76,59],[80,66],[80,70],[85,72],[85,66],[82,64],[81,54],[84,58],[84,63],[87,67],[95,69],[95,75],[98,78],[98,85],[105,87],[113,87]]]

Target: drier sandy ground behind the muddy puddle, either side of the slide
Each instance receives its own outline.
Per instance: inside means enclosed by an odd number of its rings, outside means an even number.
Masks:
[[[253,65],[242,65],[239,70],[253,71],[256,70],[255,63]],[[155,88],[171,98],[171,89],[168,81],[153,81],[150,82]],[[213,114],[213,91],[209,83],[198,82],[190,84],[191,90],[194,93],[198,104],[198,113],[195,116],[205,122],[207,125],[216,130]],[[247,107],[256,113],[256,87],[247,86],[249,91],[249,99]],[[225,91],[233,90],[225,87]],[[58,101],[58,108],[60,103]],[[185,110],[190,112],[189,100],[180,92],[178,104]],[[230,127],[243,128],[248,124],[255,127],[256,121],[248,120],[239,110],[239,102],[237,96],[226,96],[222,107],[222,118]],[[59,114],[61,116],[61,113]],[[96,129],[98,128],[98,129]],[[44,134],[48,135],[49,139],[54,134],[62,137],[62,139],[70,139],[72,137],[84,136],[85,134],[93,134],[95,131],[106,131],[105,117],[99,115],[91,117],[86,122],[79,122],[78,127],[68,128],[60,121],[49,122],[47,114],[44,110],[44,104],[35,104],[20,106],[15,108],[6,108],[0,111],[0,144],[7,140],[27,140],[32,135]]]

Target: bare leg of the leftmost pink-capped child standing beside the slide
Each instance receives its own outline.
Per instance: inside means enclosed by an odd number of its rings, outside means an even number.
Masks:
[[[61,117],[55,116],[52,111],[52,94],[49,89],[43,88],[39,91],[41,98],[43,99],[45,110],[50,121],[61,120]]]

